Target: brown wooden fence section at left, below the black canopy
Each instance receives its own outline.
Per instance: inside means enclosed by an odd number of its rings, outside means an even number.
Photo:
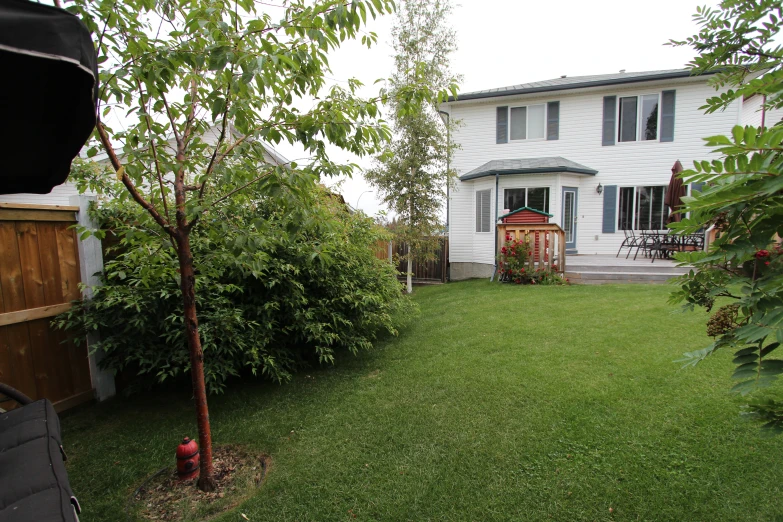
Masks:
[[[0,203],[0,381],[58,410],[93,397],[87,348],[49,325],[81,297],[78,209]]]

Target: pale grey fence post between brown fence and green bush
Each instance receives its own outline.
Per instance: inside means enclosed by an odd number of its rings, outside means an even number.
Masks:
[[[97,201],[95,196],[71,196],[70,204],[79,207],[77,221],[80,226],[95,229],[87,209],[91,202]],[[96,273],[103,271],[103,252],[101,241],[93,236],[78,241],[79,248],[79,272],[82,282],[85,284],[82,299],[92,298],[92,288],[101,284]],[[97,333],[87,334],[87,349],[98,341]],[[90,378],[95,389],[95,397],[98,401],[104,401],[113,397],[117,390],[114,386],[114,375],[107,370],[101,370],[98,364],[103,359],[103,352],[90,354]]]

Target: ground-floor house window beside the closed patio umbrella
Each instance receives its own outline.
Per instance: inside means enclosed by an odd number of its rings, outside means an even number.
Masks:
[[[664,230],[669,213],[663,201],[666,185],[620,187],[619,230]]]

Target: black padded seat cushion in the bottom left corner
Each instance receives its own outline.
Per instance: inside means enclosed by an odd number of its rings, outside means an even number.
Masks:
[[[47,399],[0,414],[0,522],[72,522],[60,420]]]

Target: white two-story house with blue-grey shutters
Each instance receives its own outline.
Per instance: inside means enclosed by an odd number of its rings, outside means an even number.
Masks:
[[[623,229],[665,229],[674,163],[711,159],[703,138],[761,123],[754,98],[705,114],[699,107],[715,95],[707,79],[682,69],[564,76],[444,103],[461,122],[451,278],[492,275],[497,216],[520,207],[552,214],[571,254],[613,254]]]

